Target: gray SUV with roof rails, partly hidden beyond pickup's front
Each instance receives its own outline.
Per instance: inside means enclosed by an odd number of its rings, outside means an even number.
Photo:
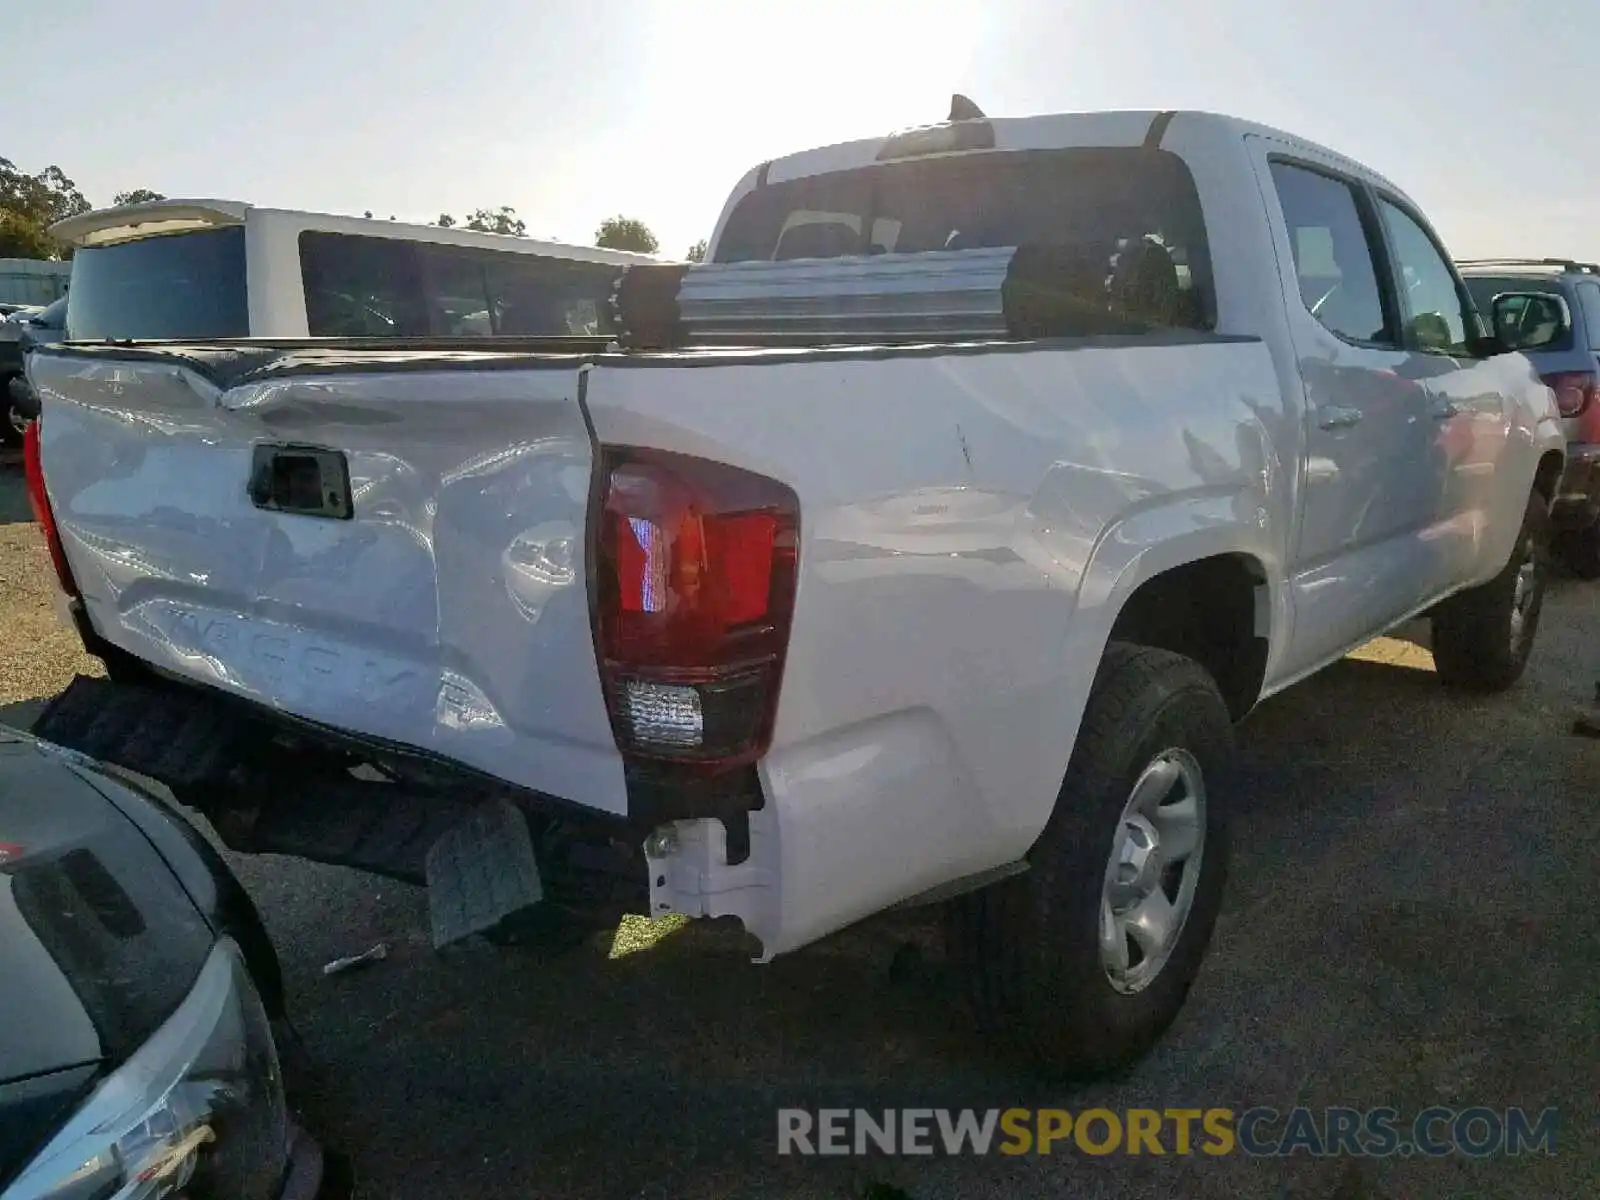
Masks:
[[[1501,314],[1496,330],[1525,344],[1531,326],[1557,322],[1555,341],[1526,350],[1566,426],[1566,474],[1552,517],[1557,549],[1574,574],[1600,579],[1600,264],[1571,259],[1470,259],[1459,262],[1478,312],[1494,310],[1506,291],[1539,293],[1549,306],[1525,304]]]

